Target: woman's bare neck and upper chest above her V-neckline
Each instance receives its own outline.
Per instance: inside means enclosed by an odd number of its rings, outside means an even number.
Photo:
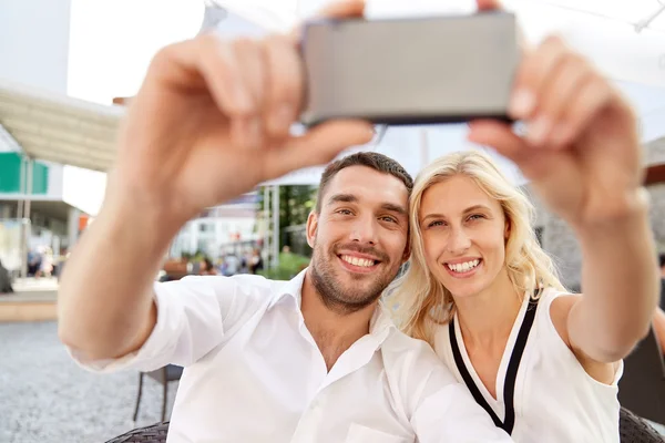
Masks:
[[[505,347],[520,313],[523,293],[518,293],[503,269],[483,291],[456,299],[460,330],[467,348],[492,350]]]

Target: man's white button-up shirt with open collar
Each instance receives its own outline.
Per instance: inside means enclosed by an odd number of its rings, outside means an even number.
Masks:
[[[328,372],[300,312],[305,271],[186,277],[156,284],[157,321],[117,360],[74,359],[93,371],[185,367],[168,443],[510,442],[423,341],[377,308],[370,333]]]

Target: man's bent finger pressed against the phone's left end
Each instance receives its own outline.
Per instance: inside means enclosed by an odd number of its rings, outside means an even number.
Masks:
[[[265,42],[267,96],[265,121],[272,137],[285,137],[303,102],[304,73],[297,50],[290,39],[282,35]]]

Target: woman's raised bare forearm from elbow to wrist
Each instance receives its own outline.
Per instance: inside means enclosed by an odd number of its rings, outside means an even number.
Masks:
[[[584,296],[567,317],[570,342],[592,360],[615,362],[646,336],[658,300],[655,246],[644,193],[636,193],[617,217],[576,233]]]

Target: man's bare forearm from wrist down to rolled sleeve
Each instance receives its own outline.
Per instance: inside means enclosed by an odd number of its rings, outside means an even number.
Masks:
[[[139,349],[156,321],[152,286],[176,230],[146,207],[104,207],[64,267],[62,342],[91,360]]]

